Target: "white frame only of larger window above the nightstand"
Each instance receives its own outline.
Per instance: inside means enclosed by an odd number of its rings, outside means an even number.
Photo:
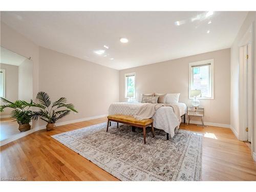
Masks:
[[[189,62],[189,84],[188,84],[188,98],[189,99],[194,99],[194,97],[190,97],[190,92],[191,92],[191,83],[192,81],[192,66],[199,66],[199,65],[204,65],[210,63],[210,69],[209,69],[209,84],[210,84],[210,92],[211,92],[211,97],[197,97],[198,99],[214,99],[214,59],[208,59],[208,60],[203,60],[203,61],[197,61],[197,62]]]

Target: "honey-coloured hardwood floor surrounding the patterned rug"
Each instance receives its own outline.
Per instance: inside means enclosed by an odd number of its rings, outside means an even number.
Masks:
[[[1,147],[1,178],[26,177],[44,181],[118,180],[50,136],[106,122],[106,118],[37,131]],[[230,129],[181,124],[203,134],[202,180],[256,180],[256,163],[249,147]]]

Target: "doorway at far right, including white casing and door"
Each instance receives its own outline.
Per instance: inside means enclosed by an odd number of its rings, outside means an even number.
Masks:
[[[253,24],[239,43],[239,140],[254,151]],[[251,143],[251,144],[250,144]]]

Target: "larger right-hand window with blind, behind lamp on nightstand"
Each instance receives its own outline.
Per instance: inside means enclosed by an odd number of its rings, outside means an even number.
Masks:
[[[189,99],[191,90],[201,90],[199,99],[214,98],[214,59],[189,63]]]

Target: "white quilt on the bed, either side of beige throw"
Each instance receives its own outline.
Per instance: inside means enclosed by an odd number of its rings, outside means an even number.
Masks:
[[[145,103],[140,102],[118,102],[112,103],[109,107],[109,115],[122,114],[122,115],[135,115],[139,110],[140,106]],[[186,104],[176,103],[180,109],[180,115],[185,113]],[[164,130],[166,133],[173,137],[175,132],[175,127],[180,123],[174,114],[173,108],[171,106],[162,106],[159,108],[155,115],[153,116],[154,127],[157,129]]]

